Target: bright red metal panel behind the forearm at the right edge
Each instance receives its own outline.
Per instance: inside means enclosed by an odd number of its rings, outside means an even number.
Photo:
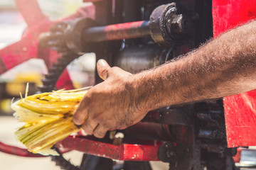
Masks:
[[[256,0],[213,0],[214,38],[256,17]],[[256,145],[256,91],[224,98],[228,147]]]

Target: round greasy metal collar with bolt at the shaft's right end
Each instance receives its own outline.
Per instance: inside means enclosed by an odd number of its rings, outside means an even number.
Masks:
[[[182,45],[183,40],[187,40],[191,33],[192,14],[176,6],[176,3],[164,4],[154,9],[150,16],[149,28],[154,42],[160,46],[172,47]]]

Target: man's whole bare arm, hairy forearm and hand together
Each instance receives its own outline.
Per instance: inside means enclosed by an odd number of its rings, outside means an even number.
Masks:
[[[161,67],[130,74],[97,62],[104,79],[92,87],[74,113],[87,134],[138,123],[156,108],[256,89],[256,22],[230,30],[198,50]]]

